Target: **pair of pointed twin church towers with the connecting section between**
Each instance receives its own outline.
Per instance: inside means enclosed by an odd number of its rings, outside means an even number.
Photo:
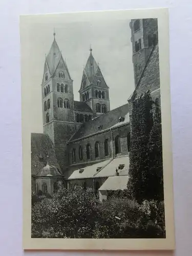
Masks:
[[[41,93],[44,134],[51,138],[59,165],[65,171],[69,165],[68,140],[83,122],[110,111],[109,87],[92,49],[82,73],[80,101],[75,101],[73,80],[54,33],[51,49],[45,59]]]

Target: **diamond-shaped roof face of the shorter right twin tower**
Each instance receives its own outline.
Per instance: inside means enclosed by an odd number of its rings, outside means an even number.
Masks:
[[[95,61],[93,55],[92,55],[92,49],[90,49],[90,55],[88,58],[88,61],[86,63],[86,67],[84,68],[84,72],[87,75],[87,78],[89,79],[89,82],[91,83],[96,72],[98,69],[97,62]]]

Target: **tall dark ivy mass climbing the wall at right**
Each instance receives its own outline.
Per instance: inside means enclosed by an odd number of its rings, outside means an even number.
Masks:
[[[153,115],[150,91],[133,101],[127,189],[140,203],[163,200],[161,113],[157,110]]]

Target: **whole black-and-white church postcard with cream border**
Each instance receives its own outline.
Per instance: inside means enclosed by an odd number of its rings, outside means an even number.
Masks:
[[[20,17],[24,249],[174,249],[168,10]]]

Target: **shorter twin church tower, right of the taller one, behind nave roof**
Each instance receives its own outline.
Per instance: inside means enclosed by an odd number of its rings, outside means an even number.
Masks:
[[[86,67],[83,68],[79,95],[80,101],[86,102],[93,110],[94,117],[110,111],[109,87],[93,57],[91,48]]]

